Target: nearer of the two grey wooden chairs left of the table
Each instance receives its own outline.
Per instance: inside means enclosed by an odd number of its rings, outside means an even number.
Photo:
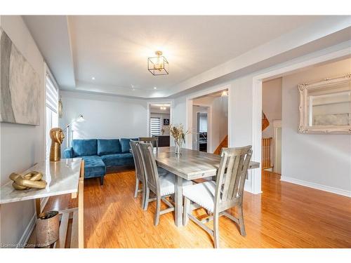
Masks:
[[[151,143],[139,142],[138,147],[140,149],[141,157],[143,160],[143,166],[145,168],[147,182],[147,189],[145,194],[145,208],[147,209],[147,205],[150,201],[154,201],[154,199],[156,199],[157,202],[156,213],[154,217],[154,225],[157,226],[159,224],[160,215],[164,215],[165,213],[174,211],[173,204],[170,201],[168,201],[166,197],[174,194],[174,184],[176,178],[175,175],[173,175],[173,173],[167,173],[164,176],[159,176]],[[189,184],[192,184],[192,182],[184,180],[183,186]],[[149,198],[150,191],[152,191],[156,195],[156,198]],[[168,208],[161,210],[161,201],[166,203]]]

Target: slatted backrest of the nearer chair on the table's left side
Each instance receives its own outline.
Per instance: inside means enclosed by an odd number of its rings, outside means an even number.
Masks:
[[[157,171],[157,164],[154,159],[154,153],[152,151],[152,144],[139,142],[139,149],[145,168],[145,178],[147,185],[154,194],[159,194],[159,173]]]

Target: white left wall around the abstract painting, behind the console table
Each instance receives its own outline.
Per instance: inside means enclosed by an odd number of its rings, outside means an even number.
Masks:
[[[0,123],[1,185],[9,181],[8,175],[21,173],[34,163],[44,160],[44,60],[25,23],[19,15],[0,17],[0,26],[20,50],[22,55],[39,74],[40,125],[29,126],[14,123]],[[17,244],[24,242],[23,234],[34,220],[34,201],[23,201],[1,205],[0,243]],[[34,222],[34,221],[32,221]],[[29,231],[29,229],[27,229]]]

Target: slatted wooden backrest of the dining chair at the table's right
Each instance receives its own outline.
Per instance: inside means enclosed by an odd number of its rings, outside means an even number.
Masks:
[[[216,180],[215,209],[242,203],[246,173],[252,156],[251,145],[223,148],[221,156]]]

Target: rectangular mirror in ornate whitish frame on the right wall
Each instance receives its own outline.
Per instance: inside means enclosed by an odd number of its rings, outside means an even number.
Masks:
[[[299,133],[351,134],[351,74],[298,85]]]

